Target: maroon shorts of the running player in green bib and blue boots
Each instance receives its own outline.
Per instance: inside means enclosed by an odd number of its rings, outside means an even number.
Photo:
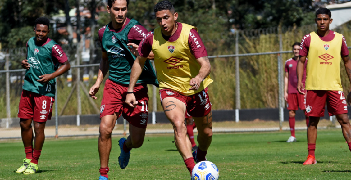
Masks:
[[[110,79],[106,80],[104,96],[102,97],[100,107],[100,118],[106,115],[119,113],[123,115],[130,124],[139,128],[146,128],[148,118],[148,100],[147,86],[137,84],[134,87],[135,99],[138,101],[137,107],[130,107],[125,103],[128,85],[119,84]]]

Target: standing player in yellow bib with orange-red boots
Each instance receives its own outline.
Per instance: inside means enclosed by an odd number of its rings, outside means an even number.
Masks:
[[[318,30],[303,37],[300,46],[300,59],[297,64],[297,90],[304,93],[302,76],[304,63],[307,62],[306,75],[306,115],[310,116],[307,128],[307,149],[309,155],[303,165],[316,164],[314,150],[316,149],[317,125],[319,118],[324,116],[325,102],[329,115],[336,115],[341,125],[343,135],[351,151],[351,125],[347,117],[347,106],[350,105],[351,93],[345,100],[340,81],[340,59],[343,59],[347,76],[351,82],[351,60],[346,40],[342,34],[329,30],[331,12],[320,8],[316,12]]]

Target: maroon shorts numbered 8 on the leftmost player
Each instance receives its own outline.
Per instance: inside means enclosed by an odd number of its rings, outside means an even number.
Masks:
[[[17,116],[22,119],[33,119],[36,122],[51,120],[52,106],[55,97],[44,96],[23,89]]]

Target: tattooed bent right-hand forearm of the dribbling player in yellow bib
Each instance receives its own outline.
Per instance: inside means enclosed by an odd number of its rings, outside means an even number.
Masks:
[[[189,90],[198,90],[201,84],[201,81],[204,80],[211,73],[211,64],[210,60],[208,60],[208,56],[204,56],[196,59],[200,64],[201,68],[199,74],[190,80],[190,86],[192,86]]]

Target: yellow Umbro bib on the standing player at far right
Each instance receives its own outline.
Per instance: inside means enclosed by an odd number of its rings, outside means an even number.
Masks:
[[[341,46],[343,35],[335,33],[331,41],[323,41],[316,32],[310,33],[307,55],[306,89],[343,91],[340,80]]]

